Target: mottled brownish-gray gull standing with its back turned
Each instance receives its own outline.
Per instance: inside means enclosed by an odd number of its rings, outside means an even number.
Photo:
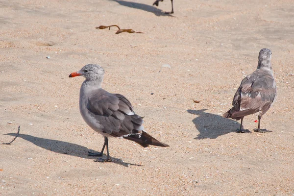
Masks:
[[[270,109],[277,92],[270,59],[270,49],[261,49],[257,69],[242,80],[235,93],[233,107],[222,115],[224,118],[232,118],[237,121],[241,119],[240,129],[237,129],[237,132],[248,132],[242,129],[243,118],[256,112],[259,112],[258,128],[254,131],[269,132],[266,129],[260,129],[260,120],[262,115]]]

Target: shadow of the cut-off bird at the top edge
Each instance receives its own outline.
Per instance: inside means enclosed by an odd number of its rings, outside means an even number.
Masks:
[[[147,5],[147,4],[143,4],[143,3],[137,3],[137,2],[131,2],[131,1],[124,1],[124,0],[112,0],[115,1],[123,6],[126,7],[131,7],[131,8],[135,8],[135,9],[141,9],[147,12],[151,12],[153,14],[155,14],[156,16],[172,16],[171,14],[166,14],[164,13],[161,9],[157,9],[154,6],[151,5]]]

